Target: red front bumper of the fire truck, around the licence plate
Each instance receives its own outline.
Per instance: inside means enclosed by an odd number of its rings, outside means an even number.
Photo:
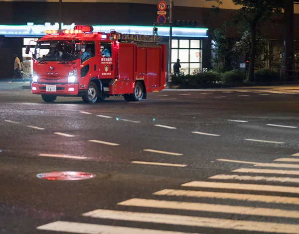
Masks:
[[[55,84],[47,84],[47,85],[55,85]],[[79,85],[78,84],[63,84],[56,85],[56,92],[47,92],[46,84],[31,84],[31,92],[32,94],[50,94],[56,96],[78,96],[79,94]]]

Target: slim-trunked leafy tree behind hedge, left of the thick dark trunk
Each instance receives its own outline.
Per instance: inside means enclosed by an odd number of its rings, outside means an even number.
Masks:
[[[240,5],[235,20],[245,20],[250,27],[251,48],[249,59],[249,81],[254,82],[254,67],[257,54],[257,29],[260,25],[271,19],[273,13],[282,12],[285,0],[232,0],[235,5]],[[213,6],[215,11],[220,10],[222,0],[216,0],[218,6]]]

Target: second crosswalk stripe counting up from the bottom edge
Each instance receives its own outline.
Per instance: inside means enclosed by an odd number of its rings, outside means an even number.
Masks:
[[[295,230],[299,229],[299,225],[109,210],[95,210],[83,214],[83,216],[110,220],[123,220],[132,222],[146,222],[218,229],[233,229],[243,231],[246,230],[265,233],[295,234],[297,232]],[[161,233],[163,234],[163,232]]]

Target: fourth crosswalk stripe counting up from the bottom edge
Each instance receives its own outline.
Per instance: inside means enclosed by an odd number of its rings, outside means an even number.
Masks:
[[[265,202],[265,203],[281,203],[281,204],[299,205],[299,198],[267,196],[267,195],[204,192],[204,191],[175,190],[175,189],[163,189],[161,191],[153,193],[153,195],[192,197],[192,198],[233,199],[233,200],[242,200],[242,201],[249,201],[249,202]]]

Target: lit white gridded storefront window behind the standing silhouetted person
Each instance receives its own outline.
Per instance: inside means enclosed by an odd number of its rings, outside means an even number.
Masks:
[[[201,40],[172,40],[171,50],[171,69],[173,72],[173,64],[177,59],[180,60],[180,72],[184,74],[192,74],[195,71],[201,71]]]

